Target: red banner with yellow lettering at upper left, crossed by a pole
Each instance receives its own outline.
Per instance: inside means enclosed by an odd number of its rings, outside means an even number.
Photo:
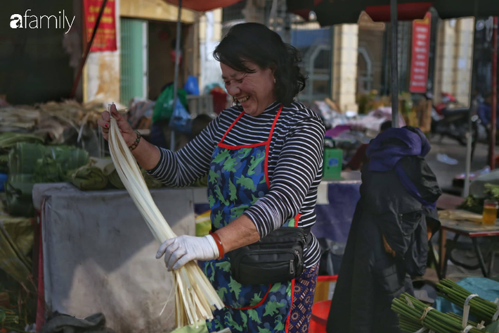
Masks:
[[[97,16],[103,0],[84,0],[86,42],[90,42],[93,29],[96,26]],[[101,16],[101,23],[97,29],[96,37],[90,49],[95,51],[116,51],[116,6],[115,0],[108,0],[105,4],[104,12]]]

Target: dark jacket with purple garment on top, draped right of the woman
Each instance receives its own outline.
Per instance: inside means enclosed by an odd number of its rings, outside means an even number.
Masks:
[[[391,301],[413,294],[411,276],[425,274],[428,238],[440,227],[433,208],[441,190],[424,158],[429,149],[413,127],[391,128],[370,142],[328,333],[401,332]]]

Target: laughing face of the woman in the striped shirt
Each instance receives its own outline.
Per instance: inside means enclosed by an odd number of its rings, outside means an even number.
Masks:
[[[262,69],[251,62],[245,65],[255,73],[239,72],[220,63],[222,79],[228,94],[238,100],[245,113],[256,117],[276,100],[273,70]]]

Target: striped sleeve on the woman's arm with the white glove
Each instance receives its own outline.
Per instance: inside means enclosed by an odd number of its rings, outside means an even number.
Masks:
[[[268,194],[245,211],[260,237],[299,213],[323,165],[325,128],[319,118],[304,118],[290,128],[271,178]]]

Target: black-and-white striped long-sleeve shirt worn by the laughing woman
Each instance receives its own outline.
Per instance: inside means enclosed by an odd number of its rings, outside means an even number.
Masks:
[[[279,108],[279,103],[273,103],[257,117],[242,115],[223,143],[240,146],[265,142]],[[241,106],[222,111],[201,134],[176,153],[160,149],[160,162],[149,174],[171,187],[188,186],[206,175],[216,145],[241,112]],[[260,237],[297,214],[301,214],[298,227],[309,228],[316,222],[314,208],[323,171],[324,131],[318,115],[303,104],[293,102],[283,107],[269,149],[270,190],[244,213],[254,222]],[[315,265],[319,258],[320,248],[313,237],[304,253],[306,267]]]

